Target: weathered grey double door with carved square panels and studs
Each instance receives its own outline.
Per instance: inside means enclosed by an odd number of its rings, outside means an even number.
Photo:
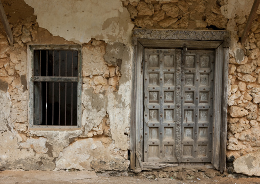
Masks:
[[[214,51],[144,54],[144,161],[210,162]]]

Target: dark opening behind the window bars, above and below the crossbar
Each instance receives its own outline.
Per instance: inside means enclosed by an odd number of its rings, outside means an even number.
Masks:
[[[77,51],[36,50],[34,57],[35,76],[77,77]],[[34,125],[77,126],[77,88],[77,82],[34,82]]]

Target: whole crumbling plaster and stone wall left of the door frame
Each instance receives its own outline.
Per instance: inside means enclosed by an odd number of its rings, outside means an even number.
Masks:
[[[119,0],[2,2],[14,46],[0,24],[0,169],[127,170],[134,27],[127,9]],[[82,45],[81,129],[28,127],[28,44]]]

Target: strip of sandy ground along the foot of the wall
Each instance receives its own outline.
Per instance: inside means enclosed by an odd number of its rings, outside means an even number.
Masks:
[[[233,178],[231,175],[226,177],[216,176],[212,178],[196,178],[195,180],[181,181],[171,178],[156,178],[148,179],[145,177],[137,176],[119,176],[119,177],[104,177],[97,176],[95,172],[90,171],[75,171],[75,172],[65,172],[65,171],[2,171],[0,172],[0,183],[232,183],[232,184],[247,184],[247,183],[259,183],[260,177],[251,178]]]

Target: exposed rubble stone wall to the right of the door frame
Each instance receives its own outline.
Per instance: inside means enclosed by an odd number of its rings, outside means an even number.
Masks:
[[[257,12],[260,13],[260,12]],[[227,160],[234,159],[234,171],[259,176],[260,150],[260,16],[257,15],[238,59],[230,55],[228,94],[228,145]],[[237,22],[237,36],[242,36],[245,22]],[[239,51],[239,49],[237,49]],[[247,159],[251,157],[250,159]],[[240,157],[240,158],[239,158]],[[239,158],[239,159],[237,159]],[[257,171],[256,171],[257,169]]]

